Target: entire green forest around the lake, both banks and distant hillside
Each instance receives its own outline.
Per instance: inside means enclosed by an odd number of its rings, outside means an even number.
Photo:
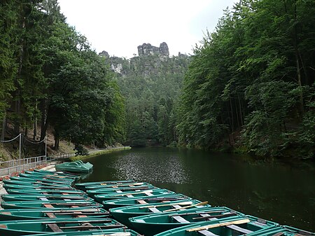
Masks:
[[[130,59],[97,55],[57,0],[0,6],[1,140],[39,141],[50,128],[56,149],[66,140],[314,158],[314,0],[241,0],[193,55]]]

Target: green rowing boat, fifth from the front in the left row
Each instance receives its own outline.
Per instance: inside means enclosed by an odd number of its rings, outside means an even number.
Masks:
[[[49,194],[38,194],[38,195],[25,195],[25,194],[3,194],[2,200],[5,202],[14,201],[52,201],[52,200],[92,200],[92,198],[86,195],[75,195],[75,194],[65,194],[65,195],[49,195]]]

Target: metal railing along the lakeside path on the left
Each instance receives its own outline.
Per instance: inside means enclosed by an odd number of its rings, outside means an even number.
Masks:
[[[32,158],[22,158],[18,160],[7,160],[0,162],[0,176],[21,172],[25,169],[36,168],[50,162],[57,162],[65,158],[71,158],[75,153],[56,154],[51,156],[40,155]]]

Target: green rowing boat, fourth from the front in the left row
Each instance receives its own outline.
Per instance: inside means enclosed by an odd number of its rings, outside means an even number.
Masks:
[[[22,208],[75,208],[75,207],[103,207],[94,201],[86,200],[72,200],[72,201],[15,201],[15,202],[1,202],[3,209],[22,209]]]

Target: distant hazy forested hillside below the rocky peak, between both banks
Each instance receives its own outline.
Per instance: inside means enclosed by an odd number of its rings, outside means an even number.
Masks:
[[[153,53],[110,62],[125,97],[127,144],[176,144],[176,108],[189,57]]]

